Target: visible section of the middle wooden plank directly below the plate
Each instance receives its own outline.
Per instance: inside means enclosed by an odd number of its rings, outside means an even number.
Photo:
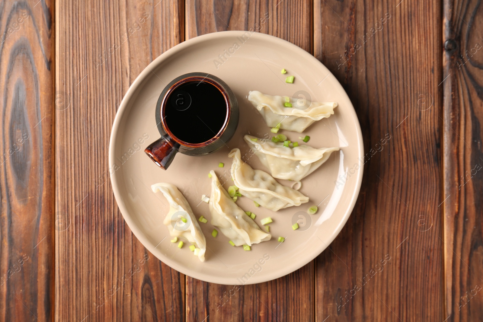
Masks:
[[[186,321],[314,321],[313,261],[277,280],[220,285],[186,276]]]

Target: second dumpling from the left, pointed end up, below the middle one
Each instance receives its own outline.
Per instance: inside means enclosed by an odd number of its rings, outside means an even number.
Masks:
[[[270,240],[271,235],[262,231],[255,221],[246,215],[222,187],[213,170],[210,197],[211,224],[229,238],[236,246],[258,244]]]

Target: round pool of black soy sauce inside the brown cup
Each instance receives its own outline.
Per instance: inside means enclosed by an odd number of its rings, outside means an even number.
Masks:
[[[225,124],[226,117],[223,94],[204,81],[179,85],[166,102],[166,125],[176,138],[187,143],[212,139]]]

